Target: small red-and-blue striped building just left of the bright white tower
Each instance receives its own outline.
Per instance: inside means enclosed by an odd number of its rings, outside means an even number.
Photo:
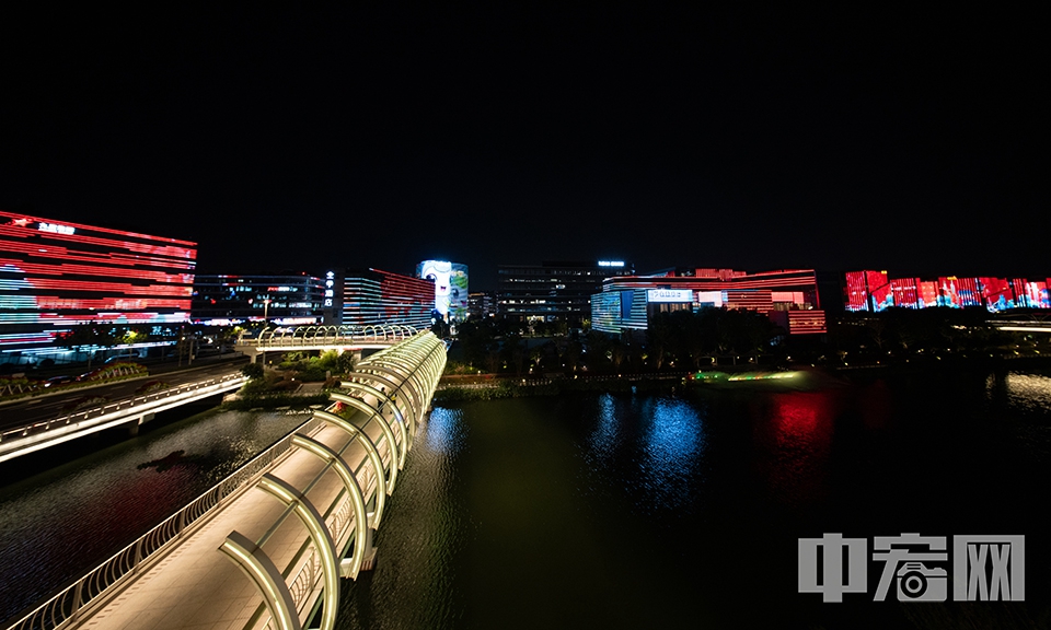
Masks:
[[[435,282],[380,269],[345,271],[339,324],[430,328],[435,311]]]

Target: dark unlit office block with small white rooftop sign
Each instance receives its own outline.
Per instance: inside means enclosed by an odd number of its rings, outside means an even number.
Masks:
[[[509,317],[579,325],[591,316],[591,295],[601,290],[603,280],[634,273],[635,266],[623,260],[500,265],[497,300]]]

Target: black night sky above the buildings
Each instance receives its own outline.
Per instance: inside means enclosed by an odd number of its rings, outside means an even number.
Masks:
[[[0,208],[212,273],[1051,276],[1036,13],[488,4],[8,15]]]

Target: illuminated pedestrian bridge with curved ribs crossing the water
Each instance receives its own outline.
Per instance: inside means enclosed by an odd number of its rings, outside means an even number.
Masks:
[[[332,629],[444,363],[429,331],[369,355],[325,410],[11,628]]]

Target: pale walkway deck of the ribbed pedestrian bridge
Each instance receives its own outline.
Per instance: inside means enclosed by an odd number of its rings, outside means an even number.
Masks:
[[[362,417],[354,418],[356,423]],[[366,425],[366,432],[373,433]],[[335,451],[349,441],[347,434],[331,424],[315,435]],[[378,431],[372,435],[379,438]],[[355,466],[365,457],[351,444],[345,459]],[[270,472],[296,488],[304,488],[323,463],[315,456],[292,448],[289,456]],[[319,510],[336,497],[342,488],[338,478],[326,472],[308,493]],[[257,540],[285,512],[285,505],[263,490],[251,487],[235,497],[199,529],[188,535],[175,549],[137,576],[116,597],[90,615],[83,616],[71,628],[106,630],[241,630],[263,603],[249,578],[223,553],[220,545],[231,530],[236,529],[251,540]],[[305,529],[294,515],[285,521],[263,546],[278,569],[296,556],[307,538]],[[263,620],[268,616],[264,614]]]

